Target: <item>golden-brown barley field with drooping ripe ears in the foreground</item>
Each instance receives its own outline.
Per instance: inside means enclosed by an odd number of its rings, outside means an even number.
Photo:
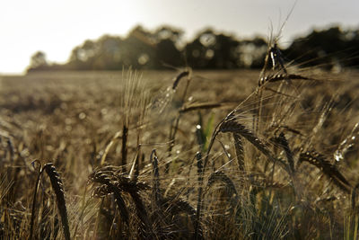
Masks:
[[[357,239],[359,73],[0,79],[1,239]]]

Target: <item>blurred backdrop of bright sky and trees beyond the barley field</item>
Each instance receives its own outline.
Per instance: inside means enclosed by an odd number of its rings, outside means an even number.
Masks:
[[[0,9],[4,75],[256,68],[269,40],[300,66],[359,66],[357,0],[19,0]]]

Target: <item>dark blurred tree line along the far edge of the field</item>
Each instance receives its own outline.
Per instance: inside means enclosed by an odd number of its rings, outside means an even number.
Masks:
[[[49,63],[38,51],[28,71],[39,70],[121,70],[192,67],[196,69],[258,68],[268,49],[267,40],[254,37],[238,40],[232,35],[207,28],[194,40],[185,42],[183,31],[161,26],[154,31],[138,25],[126,37],[104,35],[76,46],[66,64]],[[313,30],[281,49],[288,61],[302,67],[359,67],[359,30],[333,26]]]

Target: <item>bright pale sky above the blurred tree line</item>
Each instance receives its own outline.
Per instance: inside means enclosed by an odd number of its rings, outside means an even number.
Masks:
[[[84,40],[126,36],[136,24],[169,24],[186,40],[212,27],[238,38],[266,37],[291,12],[280,43],[313,28],[359,29],[359,0],[11,0],[0,2],[0,74],[21,74],[36,51],[64,63]]]

